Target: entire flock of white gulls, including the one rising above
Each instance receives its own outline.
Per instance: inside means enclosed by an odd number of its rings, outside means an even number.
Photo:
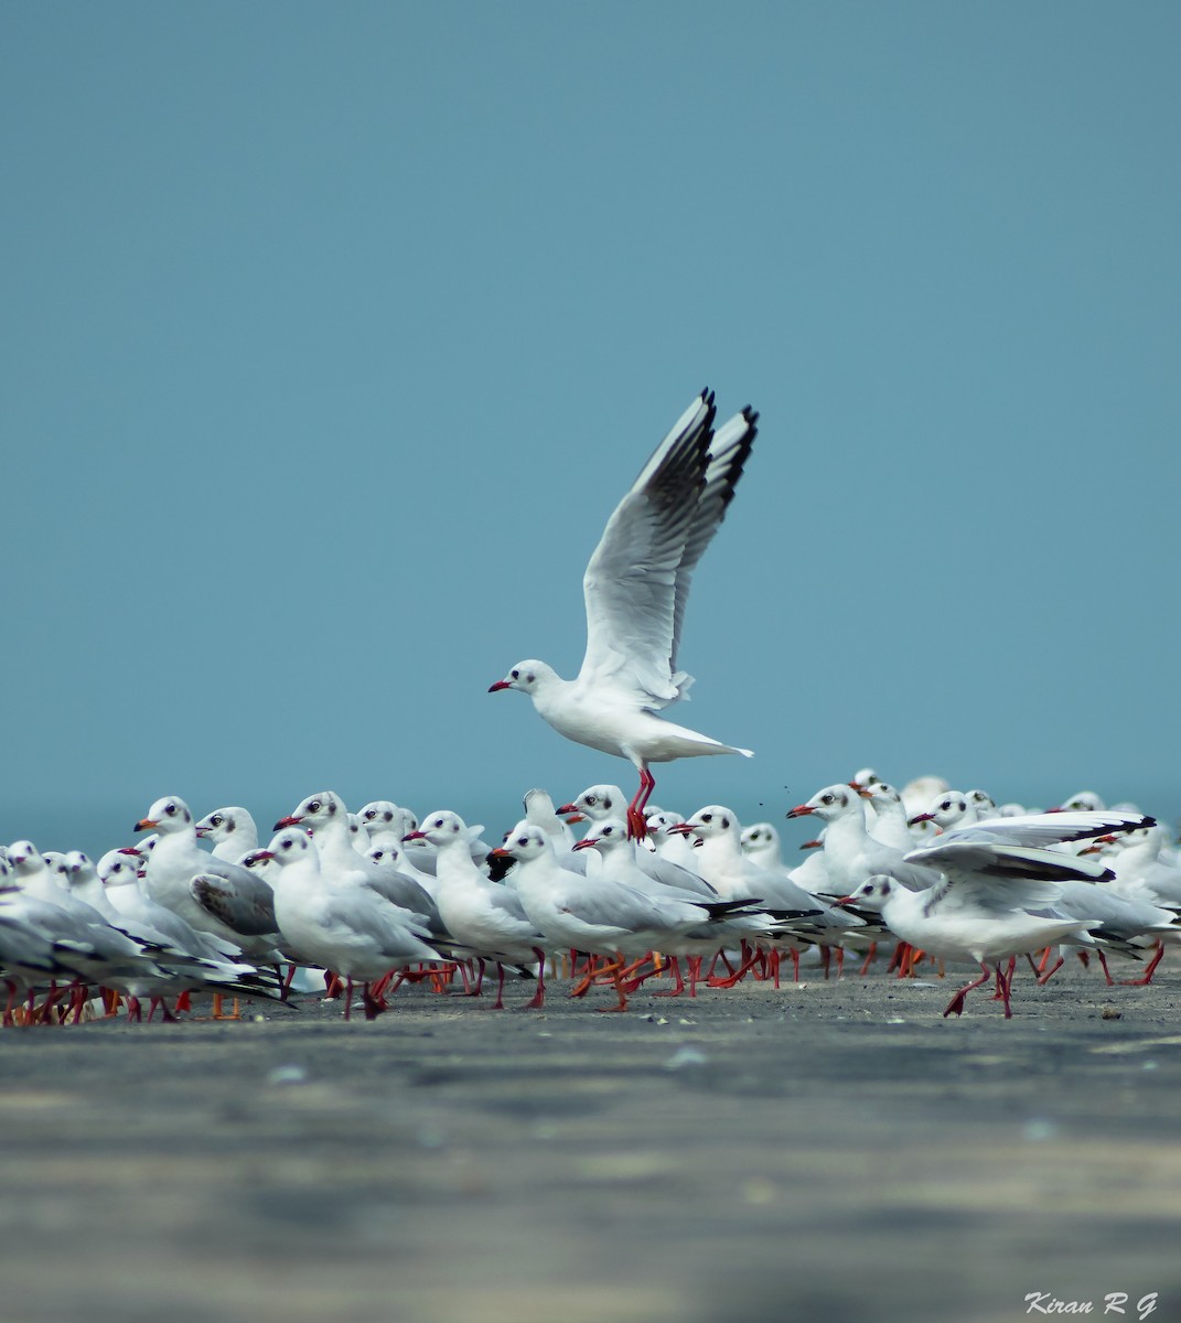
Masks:
[[[980,974],[944,1015],[989,980],[1010,1016],[1018,960],[1045,982],[1075,951],[1131,958],[1147,983],[1181,941],[1181,860],[1155,819],[1079,792],[1053,810],[1001,804],[933,778],[895,790],[871,769],[788,812],[814,823],[789,867],[771,823],[745,828],[724,804],[688,816],[651,804],[651,767],[751,751],[661,716],[692,677],[678,650],[692,573],[733,499],[757,414],[715,427],[702,392],[616,508],[584,577],[587,654],[573,680],[544,662],[516,663],[490,692],[516,689],[560,734],[625,758],[629,799],[597,785],[555,806],[543,790],[495,845],[451,810],[417,816],[392,800],[350,812],[331,791],[308,795],[262,843],[241,807],[197,820],[176,795],[158,799],[138,836],[98,863],[0,848],[4,1024],[119,1013],[164,1019],[193,992],[298,1002],[355,990],[368,1019],[405,980],[481,995],[496,971],[531,980],[545,1002],[547,963],[569,960],[571,995],[628,996],[659,972],[663,995],[699,983],[775,979],[786,955],[818,953],[827,975],[846,954],[894,976],[923,959]],[[580,828],[576,837],[575,828]]]

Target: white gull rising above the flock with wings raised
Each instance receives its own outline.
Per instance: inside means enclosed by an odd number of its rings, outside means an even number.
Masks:
[[[626,758],[639,773],[628,828],[645,835],[643,807],[655,786],[650,765],[735,753],[662,708],[688,693],[677,668],[690,581],[718,532],[755,441],[747,407],[715,434],[714,393],[703,390],[657,446],[616,507],[583,578],[587,652],[573,680],[544,662],[524,660],[489,687],[519,689],[559,734]]]

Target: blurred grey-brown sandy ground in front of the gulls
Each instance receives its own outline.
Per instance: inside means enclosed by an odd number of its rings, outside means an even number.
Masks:
[[[1170,963],[7,1031],[0,1319],[1178,1319]]]

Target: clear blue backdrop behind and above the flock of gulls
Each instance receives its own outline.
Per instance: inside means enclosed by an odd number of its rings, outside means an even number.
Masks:
[[[633,783],[487,685],[703,385],[760,437],[677,720],[1181,810],[1172,4],[54,4],[0,17],[5,808]]]

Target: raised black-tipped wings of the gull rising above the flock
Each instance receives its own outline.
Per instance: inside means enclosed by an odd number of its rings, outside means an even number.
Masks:
[[[580,679],[662,708],[688,689],[677,672],[694,566],[718,531],[755,438],[747,409],[718,434],[703,390],[655,448],[608,520],[583,578],[587,655]]]

